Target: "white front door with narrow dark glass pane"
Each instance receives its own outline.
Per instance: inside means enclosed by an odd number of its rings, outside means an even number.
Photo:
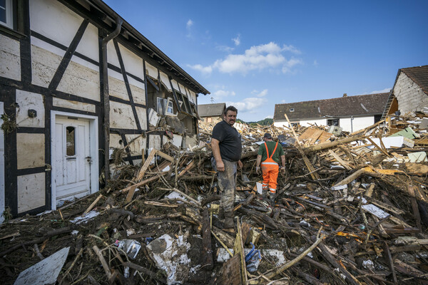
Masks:
[[[91,142],[89,121],[56,117],[55,189],[56,205],[91,194]]]

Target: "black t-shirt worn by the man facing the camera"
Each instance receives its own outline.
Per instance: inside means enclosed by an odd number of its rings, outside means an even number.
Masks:
[[[231,125],[222,120],[213,128],[212,138],[220,143],[220,155],[222,160],[238,161],[243,151],[240,133]]]

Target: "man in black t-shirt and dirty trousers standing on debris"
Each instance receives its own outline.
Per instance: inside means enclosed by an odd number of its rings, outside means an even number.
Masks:
[[[213,168],[218,172],[218,184],[222,192],[220,210],[225,214],[225,229],[233,229],[233,202],[235,202],[235,177],[238,168],[243,167],[240,161],[243,145],[240,133],[233,128],[238,110],[229,106],[223,113],[223,121],[213,128],[211,147],[213,148]]]

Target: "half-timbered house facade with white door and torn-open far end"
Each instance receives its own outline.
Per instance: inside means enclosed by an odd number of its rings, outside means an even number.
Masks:
[[[5,2],[0,212],[42,212],[97,192],[111,150],[135,138],[130,164],[166,142],[195,141],[198,94],[208,90],[103,1]]]

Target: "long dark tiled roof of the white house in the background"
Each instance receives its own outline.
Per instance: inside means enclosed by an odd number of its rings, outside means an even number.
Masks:
[[[389,93],[346,96],[340,98],[276,104],[273,120],[316,119],[323,117],[349,117],[380,115],[387,104]],[[290,109],[293,109],[291,112]]]

